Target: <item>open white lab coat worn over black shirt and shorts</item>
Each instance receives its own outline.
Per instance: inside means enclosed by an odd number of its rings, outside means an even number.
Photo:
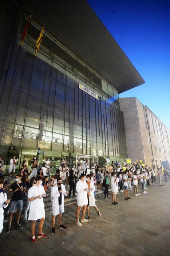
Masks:
[[[66,189],[65,186],[62,184],[62,213],[64,212],[64,195],[67,196],[66,194]],[[51,189],[51,194],[52,194],[52,214],[54,216],[59,214],[59,190],[58,190],[58,185],[54,185]]]

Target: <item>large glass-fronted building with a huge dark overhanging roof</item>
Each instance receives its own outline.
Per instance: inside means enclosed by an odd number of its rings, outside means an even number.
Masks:
[[[63,157],[69,165],[78,158],[99,165],[106,158],[123,161],[118,94],[144,80],[88,3],[7,0],[1,20],[0,153],[6,164],[14,154],[29,164],[34,155],[40,163],[50,157],[52,166]]]

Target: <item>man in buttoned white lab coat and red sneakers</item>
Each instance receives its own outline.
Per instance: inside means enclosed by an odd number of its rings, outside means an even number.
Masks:
[[[30,203],[29,207],[29,217],[28,221],[31,222],[31,243],[35,243],[35,222],[37,219],[40,219],[39,222],[39,233],[37,235],[38,238],[40,237],[47,237],[46,234],[42,232],[43,230],[43,224],[45,220],[45,210],[44,210],[44,202],[43,197],[46,197],[46,192],[44,190],[44,187],[42,186],[43,179],[42,177],[38,176],[35,178],[35,185],[33,185],[28,190],[28,200]]]

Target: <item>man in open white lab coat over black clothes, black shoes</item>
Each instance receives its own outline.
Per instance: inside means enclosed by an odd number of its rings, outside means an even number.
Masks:
[[[57,179],[57,184],[51,189],[52,194],[52,230],[51,233],[55,234],[55,217],[59,215],[60,229],[66,230],[67,227],[63,225],[62,213],[64,212],[64,195],[67,196],[65,186],[62,184],[62,179]]]

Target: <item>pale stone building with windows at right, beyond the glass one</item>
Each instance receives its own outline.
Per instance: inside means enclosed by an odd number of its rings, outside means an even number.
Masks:
[[[132,161],[142,160],[155,169],[162,161],[170,163],[170,131],[137,98],[119,98],[123,111],[127,155]]]

